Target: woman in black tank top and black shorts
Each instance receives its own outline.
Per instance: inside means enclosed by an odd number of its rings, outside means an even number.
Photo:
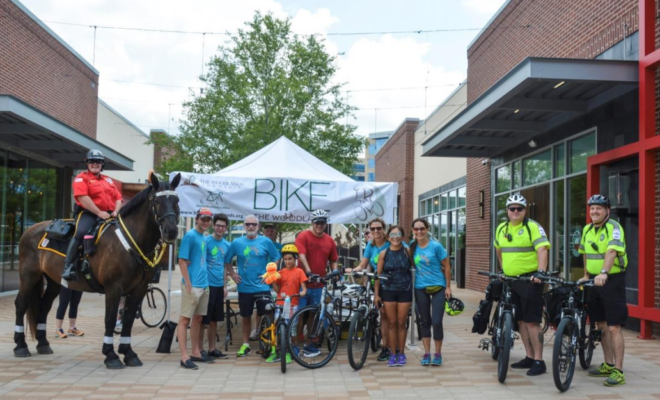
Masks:
[[[389,339],[392,346],[388,367],[406,365],[406,318],[412,304],[412,274],[410,253],[403,247],[403,228],[392,225],[387,231],[390,247],[378,257],[378,275],[387,280],[376,280],[374,302],[385,304],[385,313],[390,321]],[[394,351],[396,349],[396,352]]]

